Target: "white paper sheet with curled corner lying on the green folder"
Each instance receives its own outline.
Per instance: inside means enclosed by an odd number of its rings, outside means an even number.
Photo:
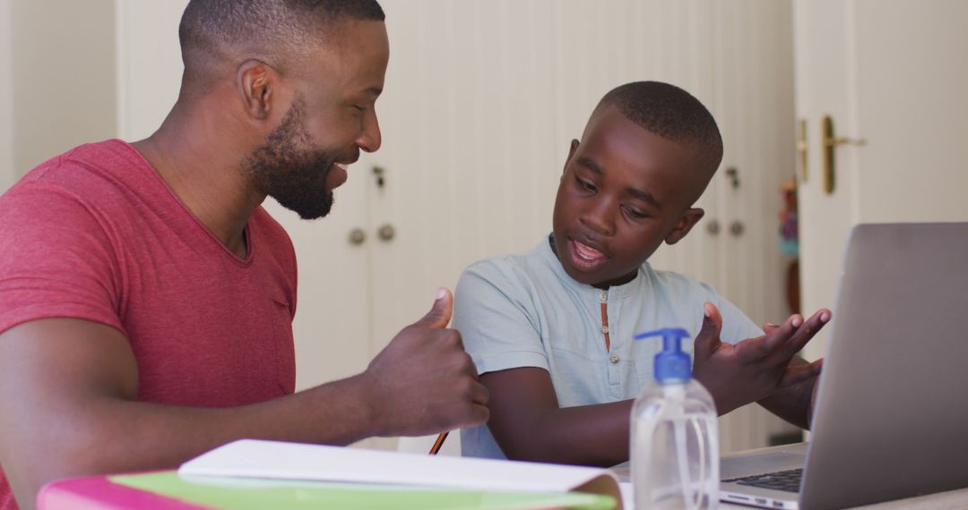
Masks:
[[[186,476],[238,476],[414,485],[481,491],[620,497],[615,473],[596,467],[441,457],[339,446],[242,439],[183,464]],[[591,485],[591,487],[589,487]]]

